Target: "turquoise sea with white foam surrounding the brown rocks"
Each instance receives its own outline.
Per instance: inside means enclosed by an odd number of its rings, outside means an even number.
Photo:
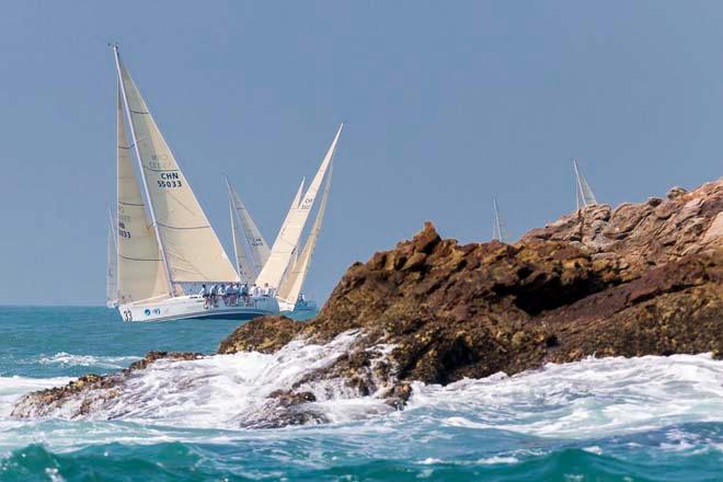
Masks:
[[[0,481],[723,480],[723,363],[705,354],[415,383],[401,412],[328,385],[317,410],[331,423],[240,428],[263,393],[342,353],[342,337],[148,370],[110,421],[10,417],[27,391],[151,349],[210,354],[237,324],[0,308]]]

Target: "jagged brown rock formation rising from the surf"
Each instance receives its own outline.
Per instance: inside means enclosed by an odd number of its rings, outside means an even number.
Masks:
[[[318,420],[299,409],[312,402],[303,387],[314,380],[343,379],[355,395],[401,406],[412,380],[512,375],[589,355],[723,357],[723,181],[587,207],[512,245],[460,245],[426,223],[351,266],[314,320],[254,320],[219,353],[323,344],[348,330],[359,334],[345,355],[271,394],[294,409],[282,423]],[[83,387],[113,377],[30,394],[14,414],[49,413],[43,406],[82,399],[92,392]]]

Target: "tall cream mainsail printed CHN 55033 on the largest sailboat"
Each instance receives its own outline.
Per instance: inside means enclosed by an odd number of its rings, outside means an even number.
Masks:
[[[149,208],[172,283],[238,280],[146,102],[119,58],[116,59]],[[179,292],[180,287],[174,285],[174,290]]]

